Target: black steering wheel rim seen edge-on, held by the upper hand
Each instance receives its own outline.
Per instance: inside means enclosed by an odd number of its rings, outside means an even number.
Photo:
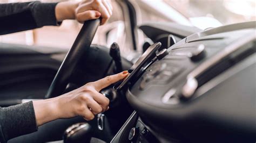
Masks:
[[[51,86],[45,95],[45,99],[59,96],[63,93],[78,61],[90,48],[91,42],[100,24],[100,19],[87,20],[77,35],[75,42],[60,65]]]

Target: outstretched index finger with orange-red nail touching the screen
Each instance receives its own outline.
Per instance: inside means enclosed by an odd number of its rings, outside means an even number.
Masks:
[[[105,78],[95,81],[93,82],[93,85],[97,91],[100,91],[103,88],[108,87],[113,83],[123,80],[123,78],[126,77],[128,74],[129,74],[128,71],[125,70],[122,73],[106,76]]]

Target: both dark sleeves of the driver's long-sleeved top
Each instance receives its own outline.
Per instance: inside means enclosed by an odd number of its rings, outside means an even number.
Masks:
[[[57,25],[57,3],[0,4],[0,35]],[[0,108],[0,142],[37,131],[33,103]]]

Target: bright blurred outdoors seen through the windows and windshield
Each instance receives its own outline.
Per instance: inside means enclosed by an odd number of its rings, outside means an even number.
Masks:
[[[1,0],[0,3],[28,2],[25,0]],[[42,0],[41,2],[60,2]],[[137,25],[149,21],[161,21],[195,26],[202,30],[232,23],[255,20],[253,0],[155,0],[130,1],[137,15]],[[120,1],[112,1],[113,15],[109,22],[99,27],[94,44],[109,47],[118,42],[122,53],[129,59],[133,51],[129,32],[130,19],[125,17]],[[61,26],[45,26],[36,30],[0,35],[0,42],[70,48],[82,25],[75,20],[65,20]],[[138,30],[138,47],[145,36]]]

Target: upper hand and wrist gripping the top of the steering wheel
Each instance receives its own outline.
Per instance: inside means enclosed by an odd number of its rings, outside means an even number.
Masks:
[[[102,25],[110,18],[112,10],[113,7],[109,0],[60,2],[56,5],[55,15],[58,22],[65,19],[76,19],[79,23],[102,17]]]

